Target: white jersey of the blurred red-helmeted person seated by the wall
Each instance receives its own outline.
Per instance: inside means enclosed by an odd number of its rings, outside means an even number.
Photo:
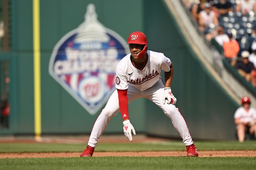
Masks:
[[[249,112],[246,112],[244,107],[239,107],[235,112],[234,118],[240,118],[242,122],[252,122],[256,119],[256,110],[254,108],[250,108]]]

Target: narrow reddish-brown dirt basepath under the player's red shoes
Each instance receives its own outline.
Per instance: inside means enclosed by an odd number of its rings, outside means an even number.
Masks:
[[[53,158],[79,157],[80,152],[60,153],[0,153],[0,158]],[[186,152],[94,152],[94,157],[101,156],[186,156]],[[199,157],[256,157],[256,151],[200,151]]]

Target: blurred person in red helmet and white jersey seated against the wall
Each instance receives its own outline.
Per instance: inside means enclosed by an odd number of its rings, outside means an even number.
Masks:
[[[234,115],[239,142],[244,142],[247,129],[249,129],[250,134],[254,134],[256,137],[256,110],[250,105],[250,98],[244,96],[242,98],[242,106],[236,110]]]

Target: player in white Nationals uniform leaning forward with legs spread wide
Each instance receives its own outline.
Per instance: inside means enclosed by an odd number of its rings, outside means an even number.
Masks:
[[[110,96],[107,105],[97,118],[88,145],[80,157],[92,156],[99,138],[119,110],[123,117],[124,135],[132,142],[132,133],[134,135],[136,133],[129,120],[128,103],[142,97],[153,101],[164,111],[187,146],[187,156],[197,157],[197,149],[189,134],[188,126],[179,109],[174,106],[176,98],[171,90],[173,77],[171,60],[163,53],[147,50],[148,40],[142,32],[131,33],[127,44],[131,53],[117,64],[116,91]],[[165,83],[160,77],[161,70],[164,70]]]

